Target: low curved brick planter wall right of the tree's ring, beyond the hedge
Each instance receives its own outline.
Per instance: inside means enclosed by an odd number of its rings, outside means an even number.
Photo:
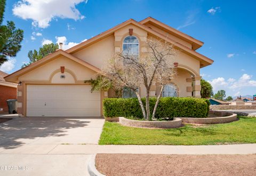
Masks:
[[[206,117],[206,118],[194,118],[194,117],[179,117],[183,123],[196,123],[196,124],[219,124],[229,123],[237,120],[237,115],[225,111],[209,111],[209,114],[218,115],[221,117]]]

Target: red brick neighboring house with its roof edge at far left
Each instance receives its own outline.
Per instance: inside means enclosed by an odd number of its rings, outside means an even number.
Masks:
[[[0,113],[8,112],[6,100],[17,99],[17,83],[6,82],[4,77],[7,75],[0,71]]]

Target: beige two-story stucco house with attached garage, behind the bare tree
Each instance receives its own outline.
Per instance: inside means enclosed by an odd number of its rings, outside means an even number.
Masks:
[[[10,82],[19,83],[18,113],[23,116],[102,116],[102,99],[111,97],[111,91],[94,91],[85,80],[95,78],[102,66],[115,52],[133,47],[133,52],[146,51],[148,37],[165,40],[178,50],[178,75],[167,85],[163,96],[201,97],[200,68],[213,60],[196,52],[203,42],[165,25],[153,18],[140,22],[127,20],[70,49],[47,55],[28,67],[6,76]],[[126,46],[126,47],[124,47]],[[192,86],[193,82],[193,86]],[[145,97],[145,87],[139,87]],[[150,96],[159,94],[152,86]],[[124,89],[124,97],[132,97]]]

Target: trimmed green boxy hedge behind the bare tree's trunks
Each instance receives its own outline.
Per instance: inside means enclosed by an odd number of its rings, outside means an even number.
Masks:
[[[142,99],[145,105],[145,98]],[[151,114],[156,98],[149,99]],[[156,110],[156,118],[172,117],[207,117],[210,101],[201,98],[161,98]],[[146,108],[145,108],[146,109]],[[137,117],[143,118],[137,98],[106,98],[103,100],[105,117]]]

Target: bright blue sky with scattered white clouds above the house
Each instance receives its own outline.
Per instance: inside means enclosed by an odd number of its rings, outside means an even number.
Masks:
[[[45,1],[44,1],[45,2]],[[204,42],[197,52],[214,60],[201,75],[214,92],[256,94],[256,1],[92,1],[8,0],[5,21],[24,30],[21,51],[0,67],[12,73],[28,62],[29,50],[42,43],[65,48],[133,18],[153,17]]]

